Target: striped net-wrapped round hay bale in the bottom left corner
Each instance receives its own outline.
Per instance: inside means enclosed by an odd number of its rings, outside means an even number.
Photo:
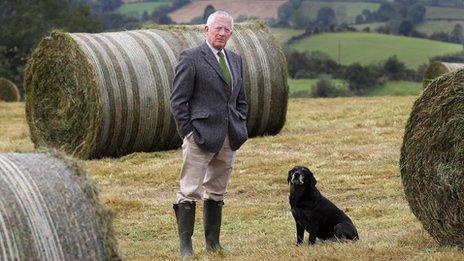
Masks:
[[[119,260],[110,216],[74,161],[0,154],[2,260]]]

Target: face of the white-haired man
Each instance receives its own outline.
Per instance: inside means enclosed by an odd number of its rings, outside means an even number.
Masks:
[[[215,49],[222,50],[232,35],[231,21],[224,17],[216,17],[211,27],[205,25],[206,40]]]

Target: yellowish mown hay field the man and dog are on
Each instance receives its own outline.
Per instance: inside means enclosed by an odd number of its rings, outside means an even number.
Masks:
[[[238,152],[224,206],[223,253],[203,251],[201,205],[193,236],[199,260],[462,260],[438,246],[404,198],[398,159],[415,97],[291,99],[277,136],[254,138]],[[33,149],[23,103],[0,103],[0,152]],[[178,258],[172,211],[180,150],[82,161],[115,213],[127,260]],[[353,219],[355,243],[294,245],[286,176],[307,165],[321,192]],[[307,235],[306,235],[307,240]]]

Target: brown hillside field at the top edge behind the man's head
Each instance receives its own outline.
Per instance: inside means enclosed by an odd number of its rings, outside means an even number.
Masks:
[[[239,16],[253,16],[261,19],[268,19],[277,17],[277,9],[285,2],[285,0],[200,0],[183,6],[169,13],[168,16],[176,23],[188,23],[193,18],[202,16],[205,7],[212,5],[216,10],[226,10],[234,19]]]

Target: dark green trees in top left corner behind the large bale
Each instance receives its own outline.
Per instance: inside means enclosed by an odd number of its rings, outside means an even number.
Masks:
[[[0,1],[0,10],[0,75],[12,79],[21,91],[26,61],[51,30],[100,30],[90,8],[77,0]]]

